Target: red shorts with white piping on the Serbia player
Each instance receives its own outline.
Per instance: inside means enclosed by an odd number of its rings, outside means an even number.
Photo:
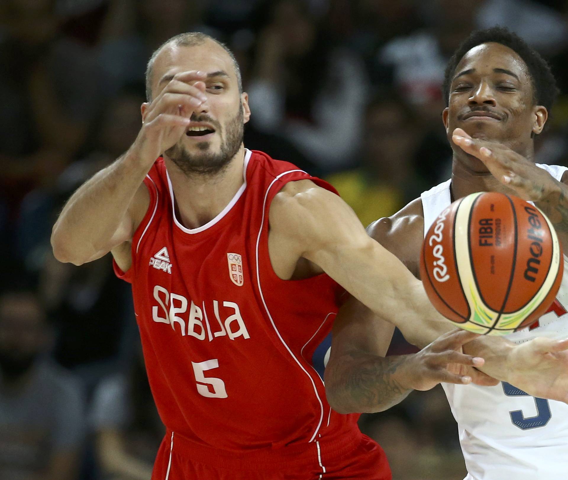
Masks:
[[[235,454],[206,448],[168,432],[152,480],[391,480],[383,449],[359,433],[347,441],[320,440],[301,449]],[[288,451],[289,450],[289,451]]]

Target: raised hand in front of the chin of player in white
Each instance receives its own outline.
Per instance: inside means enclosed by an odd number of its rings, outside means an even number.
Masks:
[[[481,160],[497,180],[515,191],[515,195],[523,200],[540,202],[558,192],[559,182],[550,173],[511,148],[471,138],[462,129],[453,131],[452,140],[467,154]]]

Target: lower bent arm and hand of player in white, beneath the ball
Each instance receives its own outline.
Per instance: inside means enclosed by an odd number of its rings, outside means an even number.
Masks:
[[[380,412],[402,402],[412,390],[429,390],[440,382],[496,383],[465,368],[483,364],[481,358],[460,351],[475,334],[454,330],[416,354],[385,358],[393,330],[354,298],[341,307],[325,369],[325,392],[334,410]]]

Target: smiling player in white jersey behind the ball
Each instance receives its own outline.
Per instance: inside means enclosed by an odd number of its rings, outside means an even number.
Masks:
[[[546,62],[503,28],[477,31],[449,61],[442,90],[448,102],[442,118],[453,149],[452,178],[422,193],[392,217],[371,224],[367,229],[371,237],[418,277],[421,243],[438,214],[457,198],[494,191],[534,201],[548,214],[568,252],[568,169],[533,161],[533,138],[544,128],[557,93]],[[550,480],[568,474],[568,399],[529,395],[538,395],[537,386],[546,390],[548,384],[552,393],[566,382],[568,355],[534,355],[533,374],[509,374],[515,358],[523,357],[531,344],[538,350],[538,344],[544,347],[568,336],[567,310],[565,256],[557,300],[529,328],[507,337],[511,352],[517,354],[503,355],[502,368],[495,368],[499,362],[489,361],[495,358],[487,338],[484,346],[474,341],[465,347],[467,353],[486,358],[483,371],[503,381],[495,386],[442,384],[458,423],[469,472],[466,480]],[[356,300],[344,305],[334,324],[325,370],[328,401],[334,409],[382,411],[410,392],[397,379],[390,357],[380,358],[386,345],[374,339],[390,332],[392,326]],[[419,328],[403,329],[403,334],[416,345],[432,340],[428,335],[420,338]],[[542,380],[552,360],[564,363],[566,375]],[[389,395],[385,384],[391,386]]]

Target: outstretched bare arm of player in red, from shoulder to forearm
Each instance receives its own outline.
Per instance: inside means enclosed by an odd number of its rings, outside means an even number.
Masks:
[[[274,197],[270,229],[271,235],[286,239],[290,257],[315,263],[392,324],[403,328],[420,321],[423,329],[439,322],[450,325],[432,307],[422,283],[366,234],[353,210],[311,181],[291,182]]]

